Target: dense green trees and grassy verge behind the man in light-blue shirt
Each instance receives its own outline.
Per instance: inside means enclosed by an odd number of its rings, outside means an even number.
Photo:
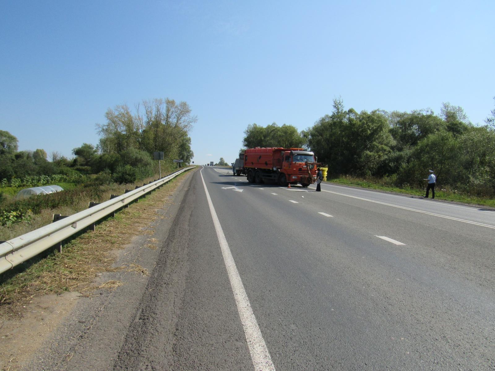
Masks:
[[[494,98],[495,99],[495,98]],[[248,125],[243,145],[302,147],[328,166],[328,180],[422,195],[428,170],[438,198],[494,206],[495,109],[485,125],[443,103],[411,112],[357,112],[334,99],[331,114],[301,132],[291,125]]]

